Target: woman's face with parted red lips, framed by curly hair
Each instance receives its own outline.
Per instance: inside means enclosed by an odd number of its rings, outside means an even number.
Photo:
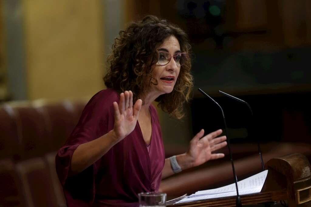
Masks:
[[[163,58],[164,53],[169,53],[170,56],[173,56],[181,52],[179,42],[174,36],[167,37],[163,44],[157,48],[157,50],[160,54],[159,59]],[[163,52],[163,54],[161,52]],[[166,65],[162,66],[158,63],[155,64],[151,74],[158,81],[158,85],[152,85],[152,89],[154,89],[159,95],[172,92],[177,81],[179,71],[180,66],[176,65],[172,57]]]

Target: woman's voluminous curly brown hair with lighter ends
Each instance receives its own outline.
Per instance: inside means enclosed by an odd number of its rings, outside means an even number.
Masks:
[[[114,39],[112,54],[107,59],[108,71],[103,79],[107,88],[118,93],[132,90],[135,102],[139,95],[147,90],[144,84],[146,77],[150,78],[150,86],[158,84],[151,74],[152,65],[158,60],[157,47],[170,36],[176,37],[181,51],[188,55],[180,68],[174,90],[169,94],[160,95],[156,101],[163,111],[180,119],[184,115],[183,103],[190,99],[193,77],[190,73],[191,46],[188,36],[177,25],[149,15],[131,23],[125,31],[120,31],[119,37]]]

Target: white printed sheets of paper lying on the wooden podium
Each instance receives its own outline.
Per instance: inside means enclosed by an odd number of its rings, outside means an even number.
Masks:
[[[266,180],[267,173],[268,170],[265,170],[251,177],[248,177],[244,180],[239,181],[238,182],[239,195],[259,193],[263,187],[263,183]],[[215,189],[197,191],[196,193],[190,196],[186,196],[185,198],[179,200],[176,203],[185,203],[197,200],[207,200],[212,198],[222,198],[230,196],[236,196],[235,183]]]

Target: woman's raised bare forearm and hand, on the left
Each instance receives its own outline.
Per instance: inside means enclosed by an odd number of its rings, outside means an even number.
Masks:
[[[72,154],[70,175],[85,170],[134,130],[139,111],[142,108],[142,100],[138,99],[133,107],[132,91],[124,91],[120,94],[119,105],[117,102],[114,102],[113,105],[114,129],[98,139],[80,144],[77,147]]]

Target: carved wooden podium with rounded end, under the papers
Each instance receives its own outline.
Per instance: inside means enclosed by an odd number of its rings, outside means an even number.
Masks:
[[[267,178],[260,193],[241,196],[242,205],[286,200],[289,207],[311,206],[311,166],[299,153],[273,158],[265,164]],[[235,206],[236,197],[199,200],[167,206]]]

